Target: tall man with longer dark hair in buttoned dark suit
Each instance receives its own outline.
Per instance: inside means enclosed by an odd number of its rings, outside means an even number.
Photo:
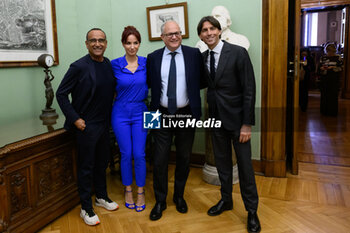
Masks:
[[[221,26],[212,16],[203,17],[197,33],[209,50],[202,55],[206,63],[209,117],[222,121],[221,128],[212,129],[216,167],[221,182],[221,200],[208,210],[216,216],[233,208],[232,151],[236,155],[240,189],[246,210],[249,232],[259,232],[257,216],[258,193],[251,161],[251,127],[254,125],[255,79],[247,51],[220,40]],[[209,55],[210,54],[210,55]]]

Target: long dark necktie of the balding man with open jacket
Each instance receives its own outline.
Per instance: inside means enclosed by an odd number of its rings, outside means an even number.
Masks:
[[[170,70],[169,70],[169,79],[168,79],[168,111],[170,114],[175,114],[177,110],[176,105],[176,63],[175,55],[176,52],[171,52],[171,61],[170,61]]]

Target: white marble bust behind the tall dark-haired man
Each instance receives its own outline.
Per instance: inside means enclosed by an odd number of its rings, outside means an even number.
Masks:
[[[228,43],[239,45],[244,47],[246,50],[249,49],[250,43],[247,37],[244,35],[234,33],[230,30],[232,24],[229,11],[224,6],[215,6],[211,12],[211,15],[216,18],[221,25],[221,39]],[[203,41],[198,41],[196,47],[201,52],[208,49],[208,46]]]

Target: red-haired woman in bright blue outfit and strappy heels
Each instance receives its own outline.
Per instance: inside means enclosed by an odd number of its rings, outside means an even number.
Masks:
[[[114,59],[112,68],[117,81],[116,99],[112,110],[112,127],[121,152],[121,175],[125,185],[125,206],[137,212],[145,209],[147,130],[143,129],[144,100],[148,96],[146,58],[137,56],[141,36],[133,26],[124,28],[122,43],[125,56]],[[134,159],[137,202],[133,201],[132,183]]]

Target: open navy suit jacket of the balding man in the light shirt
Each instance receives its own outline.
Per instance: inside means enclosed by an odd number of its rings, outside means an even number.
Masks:
[[[187,83],[187,95],[192,114],[195,118],[201,117],[200,88],[203,79],[204,64],[201,53],[197,48],[181,45]],[[161,67],[165,48],[158,49],[147,56],[147,84],[151,88],[151,110],[155,111],[160,107],[161,95]]]

